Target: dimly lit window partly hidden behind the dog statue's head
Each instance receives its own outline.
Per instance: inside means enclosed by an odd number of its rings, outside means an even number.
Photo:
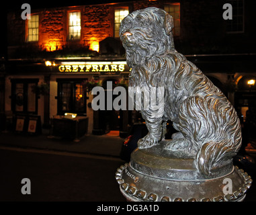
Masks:
[[[165,11],[173,17],[173,35],[179,36],[181,33],[180,3],[165,5]]]

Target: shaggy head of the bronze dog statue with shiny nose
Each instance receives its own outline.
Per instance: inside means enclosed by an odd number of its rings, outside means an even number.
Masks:
[[[174,50],[173,17],[157,7],[127,15],[120,25],[120,39],[129,67]]]

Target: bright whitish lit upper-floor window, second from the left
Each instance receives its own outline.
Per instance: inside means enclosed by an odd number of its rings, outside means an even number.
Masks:
[[[81,36],[80,11],[69,13],[69,40],[79,40]]]

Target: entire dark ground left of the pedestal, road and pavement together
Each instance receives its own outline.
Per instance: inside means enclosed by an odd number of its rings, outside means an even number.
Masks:
[[[0,133],[0,201],[124,202],[115,179],[123,139],[86,135],[80,142]],[[22,179],[31,194],[22,194]]]

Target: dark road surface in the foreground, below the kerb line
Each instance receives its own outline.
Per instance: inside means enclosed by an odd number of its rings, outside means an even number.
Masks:
[[[124,202],[114,177],[117,159],[0,149],[0,201]],[[30,193],[22,193],[30,180]]]

